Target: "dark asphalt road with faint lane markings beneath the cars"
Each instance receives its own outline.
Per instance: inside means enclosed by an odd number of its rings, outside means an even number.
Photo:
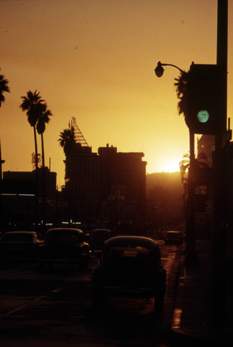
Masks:
[[[37,264],[0,269],[1,346],[168,346],[180,246],[160,243],[167,288],[162,314],[153,312],[153,299],[111,298],[100,312],[91,309],[92,256],[86,270]]]

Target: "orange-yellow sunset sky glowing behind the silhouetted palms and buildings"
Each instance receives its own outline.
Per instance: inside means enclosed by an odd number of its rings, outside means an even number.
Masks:
[[[233,4],[228,10],[228,117],[233,102]],[[93,152],[106,144],[145,153],[147,173],[178,171],[189,151],[174,78],[216,63],[217,0],[0,0],[0,67],[10,94],[0,108],[3,171],[32,170],[33,130],[20,96],[41,93],[53,112],[46,165],[64,184],[59,133],[75,117]],[[233,120],[232,120],[233,122]],[[41,152],[38,137],[39,152]]]

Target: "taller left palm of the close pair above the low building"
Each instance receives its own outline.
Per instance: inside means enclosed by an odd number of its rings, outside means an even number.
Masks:
[[[44,100],[41,99],[39,92],[35,90],[32,93],[30,90],[27,92],[27,96],[21,96],[23,102],[19,106],[22,111],[26,111],[28,116],[28,123],[33,127],[34,130],[34,141],[35,141],[35,167],[36,172],[38,172],[38,151],[37,151],[37,133],[36,133],[36,124],[39,119],[39,114],[41,112],[41,104],[44,103]]]

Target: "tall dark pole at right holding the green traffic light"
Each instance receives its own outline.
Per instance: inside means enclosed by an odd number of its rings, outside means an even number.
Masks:
[[[217,65],[221,70],[221,127],[215,135],[214,209],[212,223],[212,328],[223,334],[226,324],[225,245],[226,245],[226,148],[222,148],[227,126],[227,0],[218,0]]]

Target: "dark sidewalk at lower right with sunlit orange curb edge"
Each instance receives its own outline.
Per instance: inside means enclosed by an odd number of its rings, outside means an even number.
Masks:
[[[209,242],[197,240],[196,253],[197,267],[185,266],[185,252],[181,257],[169,346],[233,346],[232,330],[221,336],[221,341],[216,341],[211,330]]]

